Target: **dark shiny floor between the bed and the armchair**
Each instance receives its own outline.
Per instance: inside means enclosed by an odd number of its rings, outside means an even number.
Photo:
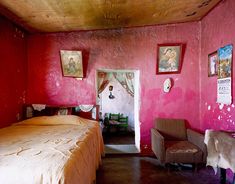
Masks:
[[[137,156],[108,156],[97,171],[96,184],[218,184],[211,168],[193,172],[190,167],[172,166],[170,171],[157,159]]]

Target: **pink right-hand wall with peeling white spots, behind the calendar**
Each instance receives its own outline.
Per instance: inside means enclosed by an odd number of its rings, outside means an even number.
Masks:
[[[234,0],[223,1],[201,22],[200,127],[203,130],[208,128],[235,130],[235,104],[225,105],[223,109],[219,108],[219,104],[216,103],[217,78],[208,77],[207,74],[208,54],[227,44],[232,43],[233,46],[235,46],[234,7]],[[234,69],[235,65],[233,64],[233,70]],[[233,99],[234,98],[235,85],[233,85]]]

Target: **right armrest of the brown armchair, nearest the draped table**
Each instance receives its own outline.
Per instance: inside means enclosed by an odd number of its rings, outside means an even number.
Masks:
[[[207,148],[206,144],[204,143],[204,135],[192,130],[187,129],[187,137],[188,141],[195,144],[197,147],[199,147],[203,152],[203,163],[206,163],[206,157],[207,157]]]

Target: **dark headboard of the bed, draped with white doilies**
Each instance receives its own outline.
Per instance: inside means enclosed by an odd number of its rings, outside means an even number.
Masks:
[[[40,106],[40,104],[35,104]],[[84,112],[80,106],[53,106],[53,105],[41,105],[42,109],[37,110],[33,104],[24,106],[24,119],[28,119],[36,116],[53,116],[53,115],[77,115],[86,119],[99,120],[99,105],[93,105],[93,108]],[[44,107],[44,108],[43,108]]]

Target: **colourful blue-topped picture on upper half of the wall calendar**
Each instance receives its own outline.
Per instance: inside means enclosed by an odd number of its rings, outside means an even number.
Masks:
[[[228,78],[232,75],[233,46],[227,45],[218,50],[218,78]]]

